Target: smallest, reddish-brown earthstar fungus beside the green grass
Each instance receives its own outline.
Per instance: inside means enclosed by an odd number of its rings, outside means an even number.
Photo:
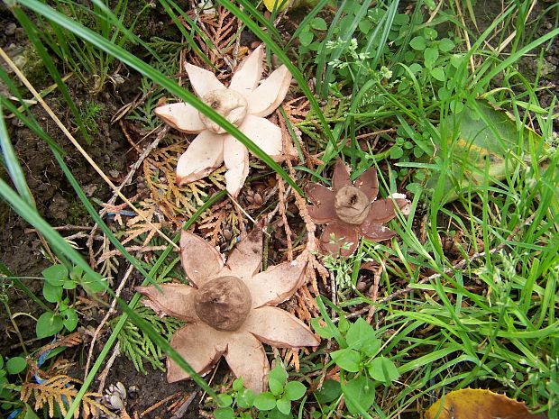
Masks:
[[[396,233],[382,225],[397,214],[396,207],[407,214],[409,201],[403,194],[377,199],[377,170],[371,168],[352,183],[342,160],[335,164],[332,189],[311,183],[307,198],[313,204],[308,214],[315,223],[327,224],[320,237],[320,250],[334,256],[348,257],[357,248],[359,237],[383,241]]]

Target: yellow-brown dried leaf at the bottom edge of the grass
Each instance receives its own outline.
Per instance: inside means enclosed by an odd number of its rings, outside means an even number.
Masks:
[[[426,410],[424,419],[545,419],[531,414],[524,403],[490,390],[464,388],[451,391]]]

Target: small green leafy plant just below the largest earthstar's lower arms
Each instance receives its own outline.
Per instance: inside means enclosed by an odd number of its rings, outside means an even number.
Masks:
[[[299,381],[288,381],[288,373],[280,362],[270,370],[270,391],[254,396],[252,390],[243,387],[243,378],[236,378],[230,394],[220,395],[221,407],[215,419],[249,419],[255,417],[252,409],[259,411],[261,419],[292,418],[291,405],[305,396],[307,387]]]

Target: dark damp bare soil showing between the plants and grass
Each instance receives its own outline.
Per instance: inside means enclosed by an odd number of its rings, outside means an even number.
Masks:
[[[529,28],[532,31],[532,39],[536,39],[556,27],[556,14],[559,13],[559,9],[555,7],[553,13],[544,14],[546,8],[550,5],[551,3],[547,2],[537,3],[532,15],[540,17]],[[487,11],[485,16],[478,17],[478,25],[480,31],[482,31],[483,27],[492,21],[493,16],[500,13],[500,2],[492,0],[480,1],[476,10]],[[160,16],[153,15],[152,19],[145,23],[145,26],[148,28],[148,33],[152,35],[154,32],[158,32],[163,24],[161,23]],[[41,89],[50,85],[51,81],[46,76],[46,71],[41,66],[40,59],[29,47],[25,32],[18,26],[12,14],[5,8],[4,3],[1,2],[0,47],[7,52],[11,59],[14,59],[14,62],[25,68],[26,76],[30,78],[36,88]],[[559,71],[557,70],[559,66],[559,40],[555,38],[548,42],[545,57],[541,61],[533,57],[527,57],[522,60],[521,64],[523,66],[522,70],[528,79],[533,79],[538,68],[543,68],[543,71],[540,70],[542,77],[538,81],[538,87],[544,88],[539,90],[537,95],[542,106],[549,105],[553,97],[559,95]],[[4,66],[4,63],[2,65]],[[122,105],[133,100],[139,93],[140,77],[132,71],[125,74],[124,84],[119,87],[108,86],[102,93],[96,96],[88,94],[83,87],[80,87],[77,80],[70,79],[69,87],[78,107],[85,108],[87,105],[95,102],[100,108],[100,111],[96,114],[95,126],[93,127],[91,143],[89,144],[81,138],[75,126],[70,123],[71,115],[64,100],[56,94],[46,97],[47,103],[59,115],[60,119],[71,128],[70,131],[75,133],[78,141],[87,150],[87,153],[116,183],[122,181],[129,166],[137,158],[135,151],[131,150],[131,146],[124,137],[124,133],[118,123],[112,124],[110,122],[111,117],[116,111]],[[7,88],[1,82],[0,95],[8,95]],[[61,150],[65,151],[64,159],[66,163],[98,210],[100,208],[98,204],[106,202],[112,196],[105,182],[60,132],[60,129],[52,123],[50,117],[41,110],[39,105],[34,105],[32,112],[38,123],[41,124],[42,129],[59,144]],[[23,166],[25,178],[32,195],[35,197],[37,209],[41,216],[52,226],[93,225],[93,222],[80,205],[76,194],[52,156],[49,146],[29,128],[22,123],[18,123],[15,118],[7,118],[6,124],[10,139]],[[554,131],[559,131],[559,121],[554,122]],[[9,181],[1,165],[0,176]],[[134,186],[129,187],[125,192],[127,194],[133,192],[133,188]],[[39,277],[41,270],[48,267],[50,261],[45,255],[37,233],[32,230],[32,226],[25,223],[14,210],[3,202],[0,202],[0,225],[3,227],[0,229],[0,261],[14,275]],[[77,244],[78,246],[83,246],[84,241],[78,240]],[[120,274],[121,277],[122,275],[123,273]],[[40,280],[23,279],[23,283],[29,287],[33,294],[41,296],[42,284]],[[35,321],[32,317],[37,318],[41,315],[41,307],[33,303],[29,297],[14,287],[6,291],[3,289],[2,292],[7,294],[13,313],[25,314],[18,315],[16,322],[28,349],[36,351],[41,346],[49,343],[47,339],[42,341],[34,339]],[[124,298],[130,298],[132,295],[131,287],[124,290]],[[91,333],[95,331],[97,325],[105,316],[105,308],[102,305],[84,306],[84,312],[81,313],[82,316],[80,317],[80,327],[83,331],[84,343],[77,348],[63,352],[62,355],[64,358],[73,360],[76,363],[72,375],[79,379],[83,379],[83,369],[87,360]],[[0,353],[3,356],[19,355],[21,349],[18,339],[14,333],[12,323],[7,318],[4,310],[0,312],[0,329],[7,331],[5,337],[0,340]],[[92,361],[95,361],[108,335],[109,330],[105,328],[105,331],[101,333],[96,342],[95,356]],[[101,370],[103,368],[104,366],[101,367]],[[173,419],[180,419],[201,416],[200,409],[203,409],[203,404],[200,405],[202,392],[199,388],[189,381],[168,384],[163,372],[151,369],[150,366],[146,366],[146,369],[148,374],[143,375],[133,367],[131,361],[124,358],[124,356],[119,356],[106,377],[105,388],[111,384],[115,385],[117,382],[122,382],[124,387],[127,388],[126,410],[131,416],[134,413],[142,414],[146,409],[166,397],[170,397],[169,403],[164,403],[154,408],[142,417],[173,417]],[[225,374],[225,366],[221,365],[217,369],[215,382],[222,382]],[[98,385],[99,383],[96,380],[90,389],[96,391]],[[195,398],[187,401],[188,397],[194,392],[196,392]],[[173,403],[175,403],[175,406],[170,412],[167,408]],[[179,408],[183,403],[189,403],[187,409]],[[177,409],[179,409],[178,413]]]

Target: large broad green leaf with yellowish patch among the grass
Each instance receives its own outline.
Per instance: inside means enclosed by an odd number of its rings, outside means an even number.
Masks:
[[[538,161],[546,157],[542,137],[525,125],[518,129],[512,117],[485,100],[475,100],[462,112],[451,114],[440,128],[449,142],[449,168],[444,170],[445,202],[454,201],[468,189],[482,187],[486,164],[489,165],[489,184],[506,178],[518,165],[518,148],[529,159],[532,147],[539,154]],[[431,156],[426,156],[430,159]],[[443,159],[446,156],[442,157]],[[530,161],[524,161],[529,165]],[[434,171],[427,187],[435,187],[440,172]]]

